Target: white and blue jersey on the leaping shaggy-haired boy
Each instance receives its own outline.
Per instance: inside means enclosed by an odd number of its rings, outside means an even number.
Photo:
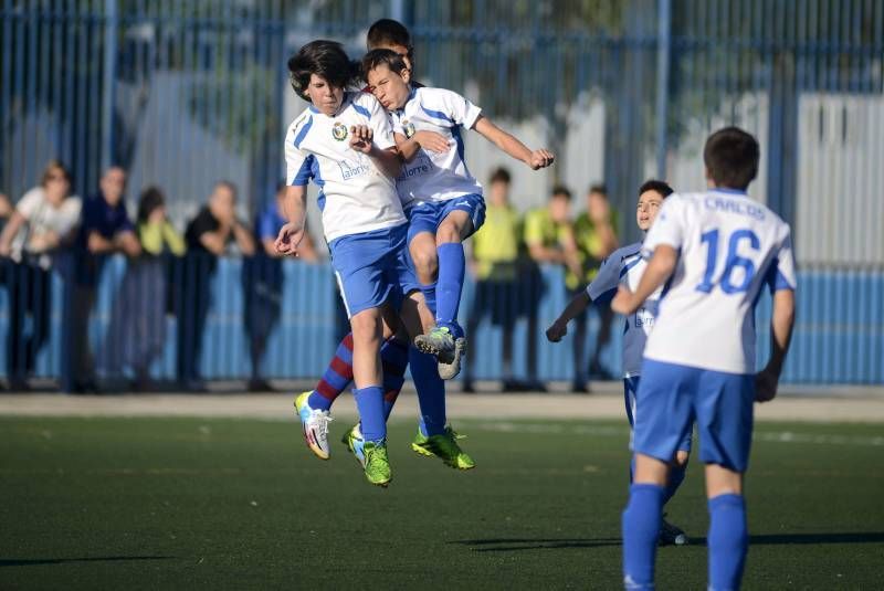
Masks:
[[[347,92],[337,115],[311,106],[285,136],[286,182],[319,186],[318,204],[327,242],[406,223],[393,179],[371,158],[350,148],[350,127],[368,125],[380,149],[394,145],[390,119],[370,94]]]

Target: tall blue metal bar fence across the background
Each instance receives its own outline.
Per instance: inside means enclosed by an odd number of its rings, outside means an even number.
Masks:
[[[80,194],[94,192],[112,162],[129,171],[130,202],[143,187],[159,184],[179,226],[220,178],[241,188],[243,215],[255,212],[272,199],[284,128],[304,107],[287,88],[286,56],[316,38],[338,39],[357,56],[368,25],[381,17],[412,30],[420,80],[462,92],[557,151],[557,166],[541,173],[511,162],[523,208],[541,204],[554,181],[578,192],[604,181],[629,212],[648,177],[664,176],[676,189],[704,184],[699,152],[711,129],[733,123],[755,133],[764,161],[751,192],[793,224],[802,277],[813,286],[799,302],[803,331],[790,380],[881,381],[882,0],[0,0],[0,192],[18,199],[49,158],[60,158]],[[470,137],[467,160],[482,179],[505,158]],[[620,224],[624,242],[638,238],[630,215]],[[222,262],[212,279],[231,302],[235,266]],[[292,274],[308,267],[284,268],[302,285]],[[311,273],[326,273],[320,268]],[[114,263],[105,275],[123,281],[126,273]],[[62,289],[57,279],[53,285]],[[17,288],[7,289],[6,323],[13,335],[31,334],[12,313],[29,293]],[[101,312],[109,296],[102,297],[91,325],[99,333],[95,326],[110,318]],[[556,297],[544,305],[559,304]],[[62,300],[63,291],[53,299],[53,323],[63,319]],[[282,316],[290,324],[281,335],[288,336],[273,338],[301,342],[302,328],[315,330],[315,347],[272,374],[315,374],[334,348],[328,327],[311,324],[326,313],[298,309]],[[210,331],[220,330],[213,314]],[[227,316],[225,326],[242,321]],[[231,352],[241,352],[244,337],[230,330],[203,337],[200,363],[220,368],[207,377],[248,373]],[[60,335],[49,330],[36,356],[43,374],[64,373]],[[526,339],[518,328],[517,348]],[[840,339],[856,348],[838,346]],[[541,378],[570,371],[544,350]],[[845,351],[850,357],[840,357]],[[175,373],[176,357],[173,347],[164,349],[164,376]],[[309,367],[295,369],[306,358]],[[796,366],[801,359],[807,365]],[[478,365],[497,367],[494,359]]]

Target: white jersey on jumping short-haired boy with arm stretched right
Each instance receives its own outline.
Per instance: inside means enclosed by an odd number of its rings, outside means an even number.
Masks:
[[[463,159],[461,137],[481,114],[481,108],[457,93],[428,87],[412,88],[406,105],[390,114],[397,134],[411,138],[417,131],[435,131],[449,140],[448,151],[420,149],[402,166],[396,188],[406,208],[482,194],[482,184],[470,173]]]

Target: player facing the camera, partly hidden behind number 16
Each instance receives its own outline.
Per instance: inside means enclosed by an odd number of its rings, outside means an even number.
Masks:
[[[661,180],[649,180],[639,188],[639,203],[635,208],[635,222],[642,232],[648,232],[654,222],[663,200],[672,194],[672,188]],[[568,334],[568,323],[579,316],[587,307],[597,302],[610,302],[617,293],[617,287],[621,283],[630,289],[639,286],[639,278],[645,267],[645,261],[641,255],[642,243],[634,242],[628,246],[618,249],[606,258],[599,273],[586,289],[573,296],[562,310],[561,315],[550,325],[546,331],[547,338],[551,342],[559,342]],[[635,392],[639,389],[639,378],[641,376],[642,352],[644,342],[651,328],[654,326],[656,315],[656,304],[660,299],[662,287],[654,292],[642,306],[625,319],[623,328],[623,399],[627,407],[627,419],[630,426],[635,424]],[[691,454],[691,431],[678,443],[675,457],[672,458],[672,473],[666,485],[666,493],[663,503],[675,495],[675,492],[684,482],[685,471],[687,469],[687,458]],[[630,482],[632,482],[633,468],[630,463]],[[660,528],[661,545],[683,545],[687,542],[687,537],[678,527],[663,520]]]

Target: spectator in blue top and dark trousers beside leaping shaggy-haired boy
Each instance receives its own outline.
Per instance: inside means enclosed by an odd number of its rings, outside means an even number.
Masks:
[[[249,390],[269,392],[273,387],[261,376],[261,362],[267,348],[267,339],[280,319],[283,296],[282,256],[276,252],[276,236],[288,220],[285,218],[285,182],[276,188],[275,199],[264,208],[255,220],[254,256],[246,258],[242,267],[243,294],[245,295],[245,330],[249,334],[249,353],[252,373]],[[297,249],[297,260],[317,260],[313,240],[307,232]]]

